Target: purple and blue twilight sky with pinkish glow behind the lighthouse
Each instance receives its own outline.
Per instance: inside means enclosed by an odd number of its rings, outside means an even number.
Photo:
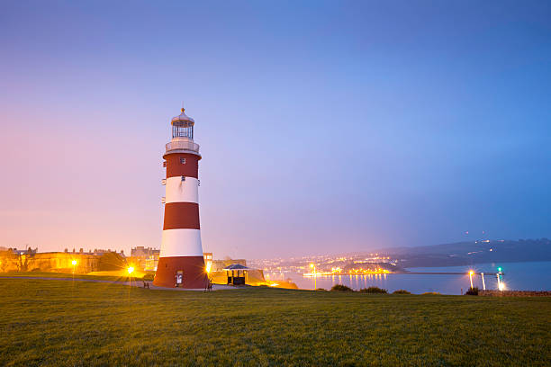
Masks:
[[[551,237],[549,2],[208,4],[2,4],[0,246],[160,246],[182,101],[217,258]]]

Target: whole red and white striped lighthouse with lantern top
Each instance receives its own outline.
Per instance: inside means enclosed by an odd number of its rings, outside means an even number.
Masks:
[[[182,113],[170,121],[172,139],[166,145],[167,167],[163,236],[153,284],[159,287],[204,288],[208,282],[199,226],[199,145],[194,124]]]

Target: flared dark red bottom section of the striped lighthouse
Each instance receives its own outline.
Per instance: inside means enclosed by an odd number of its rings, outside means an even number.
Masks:
[[[205,288],[209,280],[203,256],[160,257],[153,285],[168,288]]]

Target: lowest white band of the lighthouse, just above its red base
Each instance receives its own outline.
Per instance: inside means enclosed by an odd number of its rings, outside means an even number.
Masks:
[[[188,228],[163,230],[161,251],[158,256],[203,256],[201,230]]]

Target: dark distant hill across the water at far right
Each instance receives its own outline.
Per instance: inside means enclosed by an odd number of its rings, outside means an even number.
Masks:
[[[459,266],[481,263],[551,261],[551,240],[479,240],[454,244],[378,250],[401,267]]]

